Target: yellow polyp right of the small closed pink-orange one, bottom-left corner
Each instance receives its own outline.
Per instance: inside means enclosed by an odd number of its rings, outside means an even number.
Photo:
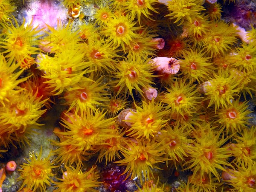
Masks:
[[[50,161],[50,156],[47,158],[42,158],[42,148],[39,154],[32,154],[29,159],[26,159],[28,163],[21,165],[20,177],[18,180],[23,180],[23,184],[20,186],[20,190],[23,187],[35,192],[37,189],[41,191],[46,191],[46,186],[49,186],[52,182],[54,174],[52,174],[52,169],[58,166],[53,166]]]

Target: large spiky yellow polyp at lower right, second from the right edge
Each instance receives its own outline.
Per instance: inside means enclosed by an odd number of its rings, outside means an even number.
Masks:
[[[220,181],[220,175],[217,169],[225,170],[222,166],[232,166],[227,159],[231,156],[227,150],[228,147],[221,147],[229,138],[222,138],[219,140],[221,132],[214,133],[213,130],[208,130],[204,137],[196,137],[195,147],[188,151],[188,156],[191,158],[186,161],[185,169],[192,169],[192,179],[200,174],[202,180],[206,173],[209,178],[214,175]]]

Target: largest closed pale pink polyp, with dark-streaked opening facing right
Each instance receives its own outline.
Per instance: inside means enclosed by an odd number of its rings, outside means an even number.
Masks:
[[[179,61],[172,57],[156,57],[150,61],[157,66],[156,71],[168,74],[176,74],[180,70]]]

